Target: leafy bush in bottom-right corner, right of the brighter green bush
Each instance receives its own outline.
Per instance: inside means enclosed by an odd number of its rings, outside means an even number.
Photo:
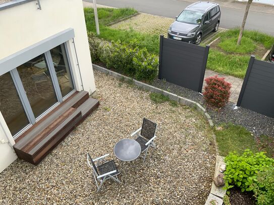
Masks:
[[[251,188],[257,204],[274,204],[274,167],[258,172],[255,182]]]

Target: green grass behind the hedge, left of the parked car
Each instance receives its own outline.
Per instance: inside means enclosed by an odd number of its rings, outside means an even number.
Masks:
[[[101,39],[107,41],[122,41],[122,42],[138,42],[140,48],[146,48],[148,52],[158,54],[159,53],[159,36],[144,34],[136,31],[126,31],[109,28],[106,25],[120,20],[122,18],[128,17],[130,15],[136,14],[137,11],[134,9],[123,8],[123,9],[106,9],[98,8],[98,21],[100,27],[100,35],[98,36]],[[92,8],[85,8],[85,21],[88,31],[96,33],[95,21],[94,21],[94,12]]]

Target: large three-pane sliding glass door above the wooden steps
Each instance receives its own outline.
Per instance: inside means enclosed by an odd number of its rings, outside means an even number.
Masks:
[[[0,111],[16,138],[75,91],[65,44],[0,76]]]

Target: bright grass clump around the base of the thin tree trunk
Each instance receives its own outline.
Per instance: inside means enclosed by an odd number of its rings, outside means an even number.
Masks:
[[[256,44],[253,40],[247,37],[242,37],[241,45],[237,45],[237,37],[222,39],[218,46],[228,53],[251,53],[256,49]]]

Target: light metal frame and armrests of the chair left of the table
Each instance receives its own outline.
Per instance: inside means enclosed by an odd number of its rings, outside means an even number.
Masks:
[[[98,192],[100,190],[100,188],[102,187],[102,185],[103,185],[103,183],[106,179],[113,179],[113,180],[117,181],[118,183],[122,183],[117,177],[117,175],[120,174],[120,172],[118,170],[113,170],[111,172],[107,172],[105,174],[98,175],[97,172],[94,170],[94,167],[92,166],[91,162],[90,162],[90,160],[92,160],[93,162],[96,162],[96,168],[97,168],[97,166],[100,164],[100,162],[105,162],[105,163],[107,162],[104,158],[107,157],[108,155],[109,154],[105,154],[105,155],[103,155],[101,157],[98,157],[98,158],[93,160],[89,156],[89,154],[87,154],[87,163],[88,163],[88,166],[90,166],[92,168],[93,177],[94,177],[94,180],[95,180],[95,183],[96,183],[96,186],[97,186],[97,191],[96,192]],[[111,175],[115,172],[117,172],[117,174]],[[98,182],[100,184],[98,184]]]

